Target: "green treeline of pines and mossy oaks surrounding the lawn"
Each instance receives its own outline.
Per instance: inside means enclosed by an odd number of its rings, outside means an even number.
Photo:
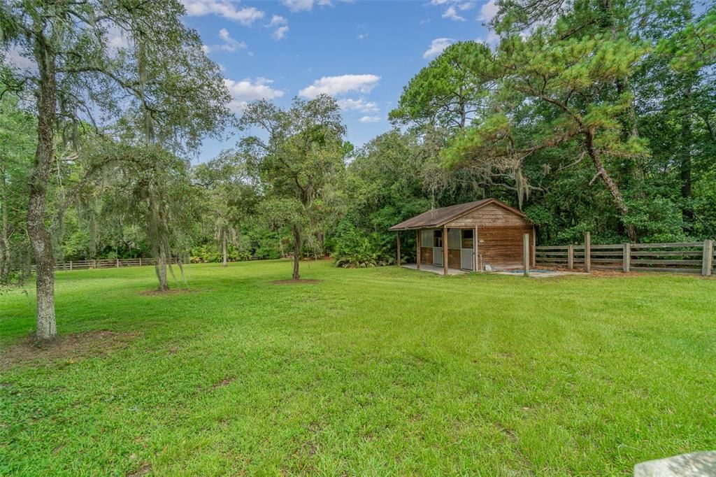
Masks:
[[[37,264],[51,337],[57,260],[153,256],[168,289],[170,256],[290,255],[299,279],[301,256],[388,264],[387,228],[484,197],[525,211],[541,244],[716,236],[715,7],[498,6],[498,44],[445,49],[355,150],[331,97],[234,117],[178,1],[3,4],[4,51],[35,66],[0,67],[1,281]],[[230,130],[235,148],[191,165]]]

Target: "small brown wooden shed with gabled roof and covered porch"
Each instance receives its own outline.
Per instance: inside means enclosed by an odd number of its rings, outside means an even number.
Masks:
[[[528,256],[534,266],[535,231],[527,216],[495,198],[435,208],[390,228],[415,231],[417,269],[420,265],[464,271],[524,268],[524,234],[529,235]],[[445,240],[447,237],[447,240]],[[443,247],[447,244],[447,247]]]

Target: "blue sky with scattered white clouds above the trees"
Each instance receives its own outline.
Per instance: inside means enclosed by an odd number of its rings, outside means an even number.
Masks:
[[[362,145],[390,129],[402,87],[442,48],[491,39],[494,1],[183,0],[185,24],[223,68],[232,109],[258,98],[286,106],[327,92],[339,100],[348,140]],[[208,140],[198,160],[232,147]]]

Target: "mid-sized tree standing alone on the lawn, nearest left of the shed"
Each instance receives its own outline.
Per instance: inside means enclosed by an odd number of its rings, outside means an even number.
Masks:
[[[344,158],[352,145],[343,141],[340,108],[327,95],[295,98],[287,110],[261,100],[246,107],[240,125],[260,127],[268,135],[267,140],[243,138],[239,153],[266,187],[259,208],[264,221],[291,233],[294,279],[299,279],[304,245],[322,256],[324,236],[344,211]]]

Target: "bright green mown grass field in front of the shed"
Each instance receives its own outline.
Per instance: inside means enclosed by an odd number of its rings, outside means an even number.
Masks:
[[[714,279],[290,270],[192,265],[164,296],[148,267],[58,273],[75,335],[42,362],[32,291],[0,296],[0,473],[601,476],[716,448]]]

